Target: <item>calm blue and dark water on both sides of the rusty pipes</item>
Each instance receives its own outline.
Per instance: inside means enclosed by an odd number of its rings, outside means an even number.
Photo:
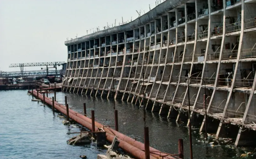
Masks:
[[[114,125],[113,100],[96,97],[93,102],[90,96],[71,93],[57,93],[57,101],[64,103],[67,96],[68,104],[74,110],[83,111],[86,102],[87,114],[95,110],[95,118],[106,125]],[[53,94],[49,95],[53,96]],[[106,150],[89,146],[69,146],[66,144],[72,135],[67,132],[80,131],[79,128],[65,126],[58,117],[58,113],[51,108],[42,106],[41,102],[31,102],[31,96],[26,91],[0,92],[0,158],[79,158],[96,159],[97,154]],[[8,104],[9,103],[9,104]],[[116,100],[118,110],[119,131],[143,142],[144,121],[143,109],[131,103]],[[175,120],[166,119],[151,112],[146,114],[149,127],[150,146],[164,152],[177,153],[178,139],[184,139],[185,158],[189,153],[189,132],[185,126],[175,123]],[[193,153],[195,159],[231,159],[240,158],[244,151],[253,151],[254,148],[228,148],[198,142],[204,136],[199,135],[199,129],[193,129]]]

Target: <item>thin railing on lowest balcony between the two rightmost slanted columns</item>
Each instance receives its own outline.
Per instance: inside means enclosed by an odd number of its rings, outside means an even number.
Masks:
[[[244,109],[243,107],[241,107],[242,105],[244,105]],[[245,111],[245,102],[242,102],[240,104],[240,106],[237,108],[237,110],[229,110],[227,109],[227,117],[228,118],[235,118],[235,121],[242,121],[243,119],[243,115],[244,115],[244,111]]]

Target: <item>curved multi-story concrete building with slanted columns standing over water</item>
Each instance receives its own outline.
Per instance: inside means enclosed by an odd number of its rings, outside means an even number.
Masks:
[[[146,109],[187,121],[190,77],[192,124],[204,131],[206,105],[208,132],[256,144],[255,0],[166,0],[65,45],[63,91],[140,105],[144,94]]]

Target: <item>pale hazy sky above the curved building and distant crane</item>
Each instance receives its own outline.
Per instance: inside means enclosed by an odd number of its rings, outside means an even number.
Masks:
[[[0,70],[12,63],[67,61],[66,38],[136,19],[155,0],[0,0]],[[24,70],[38,70],[25,67]]]

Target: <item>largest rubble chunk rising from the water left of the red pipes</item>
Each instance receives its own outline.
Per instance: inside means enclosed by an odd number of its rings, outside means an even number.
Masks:
[[[84,145],[84,144],[90,144],[91,140],[89,137],[89,133],[82,133],[78,136],[74,136],[71,139],[67,140],[68,145]]]

